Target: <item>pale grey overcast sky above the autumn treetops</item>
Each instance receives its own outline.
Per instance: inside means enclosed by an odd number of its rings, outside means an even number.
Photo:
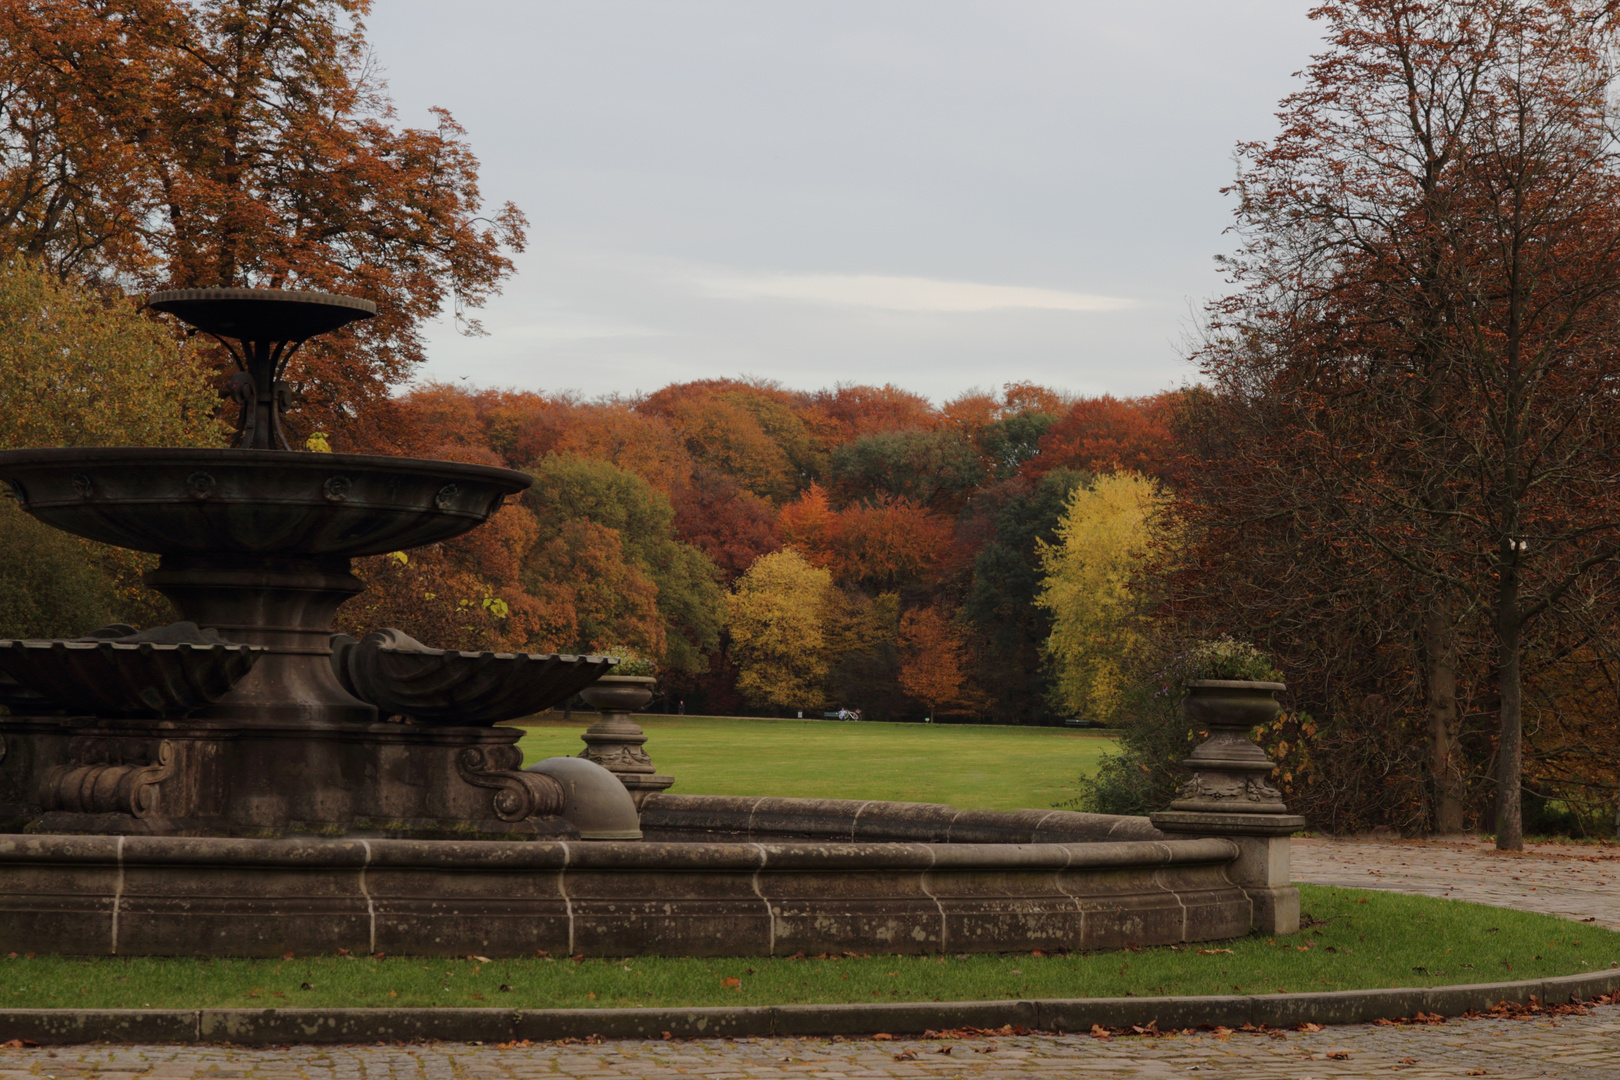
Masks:
[[[586,397],[750,374],[946,400],[1150,393],[1221,290],[1233,146],[1319,50],[1302,0],[379,0],[518,272],[423,377]]]

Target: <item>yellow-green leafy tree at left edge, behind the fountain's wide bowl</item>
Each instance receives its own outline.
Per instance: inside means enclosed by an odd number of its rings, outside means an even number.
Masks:
[[[0,257],[0,449],[224,445],[193,350],[117,293]],[[0,504],[0,636],[172,619],[139,581],[156,557],[79,541]]]

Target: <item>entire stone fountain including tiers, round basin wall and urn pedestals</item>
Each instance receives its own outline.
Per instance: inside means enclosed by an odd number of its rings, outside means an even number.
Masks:
[[[355,641],[330,623],[363,588],[352,559],[476,528],[530,478],[288,449],[287,359],[371,316],[366,301],[151,304],[232,348],[240,439],[0,453],[40,521],[157,552],[147,580],[183,617],[0,641],[0,950],[993,952],[1294,929],[1299,819],[1233,735],[1275,711],[1275,687],[1238,695],[1243,716],[1215,724],[1160,827],[671,793],[625,712],[645,698],[629,678],[590,691],[585,755],[522,767],[501,721],[616,661],[454,653],[389,628]]]

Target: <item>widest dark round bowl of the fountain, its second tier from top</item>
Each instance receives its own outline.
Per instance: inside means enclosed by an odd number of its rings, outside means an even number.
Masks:
[[[526,473],[360,453],[65,447],[0,452],[52,528],[159,554],[379,555],[460,536]]]

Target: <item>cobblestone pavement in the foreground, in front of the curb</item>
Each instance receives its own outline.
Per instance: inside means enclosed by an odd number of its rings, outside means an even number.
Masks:
[[[737,1040],[601,1046],[83,1046],[0,1049],[0,1080],[1009,1080],[1210,1077],[1328,1080],[1615,1080],[1620,1006],[1586,1017],[1346,1027],[1283,1038],[1231,1033],[1094,1040]]]

